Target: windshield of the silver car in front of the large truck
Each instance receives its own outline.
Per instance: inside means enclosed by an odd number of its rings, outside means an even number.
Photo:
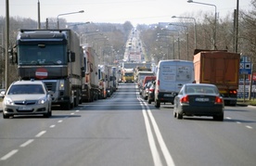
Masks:
[[[14,84],[8,95],[45,94],[42,84]]]

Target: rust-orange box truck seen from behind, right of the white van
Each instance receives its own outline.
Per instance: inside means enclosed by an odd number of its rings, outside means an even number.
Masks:
[[[195,50],[195,82],[215,84],[225,105],[237,104],[240,55],[225,50]]]

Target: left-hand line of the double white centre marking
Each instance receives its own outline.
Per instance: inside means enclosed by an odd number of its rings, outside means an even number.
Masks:
[[[141,106],[144,108],[144,106],[142,104],[141,104]],[[149,121],[148,121],[148,118],[147,118],[146,111],[147,110],[142,109],[142,113],[143,113],[143,117],[144,117],[144,121],[145,121],[145,125],[146,125],[146,130],[147,130],[147,139],[148,139],[148,142],[149,142],[149,147],[151,149],[151,154],[152,154],[152,157],[153,157],[153,160],[154,160],[154,165],[161,166],[162,163],[161,163],[161,160],[160,160],[160,154],[159,154],[158,149],[156,147],[155,139],[154,139],[154,136],[153,136],[152,131],[151,131],[151,127],[150,127],[150,124],[149,124]]]

